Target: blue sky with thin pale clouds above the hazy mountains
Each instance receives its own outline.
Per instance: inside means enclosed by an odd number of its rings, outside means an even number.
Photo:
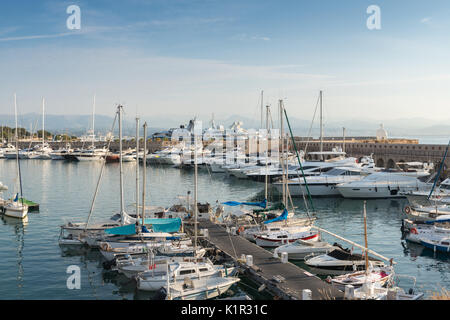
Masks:
[[[70,5],[79,30],[67,28]],[[369,30],[370,5],[381,28]],[[0,2],[0,114],[450,119],[450,2]],[[275,109],[274,109],[275,112]]]

